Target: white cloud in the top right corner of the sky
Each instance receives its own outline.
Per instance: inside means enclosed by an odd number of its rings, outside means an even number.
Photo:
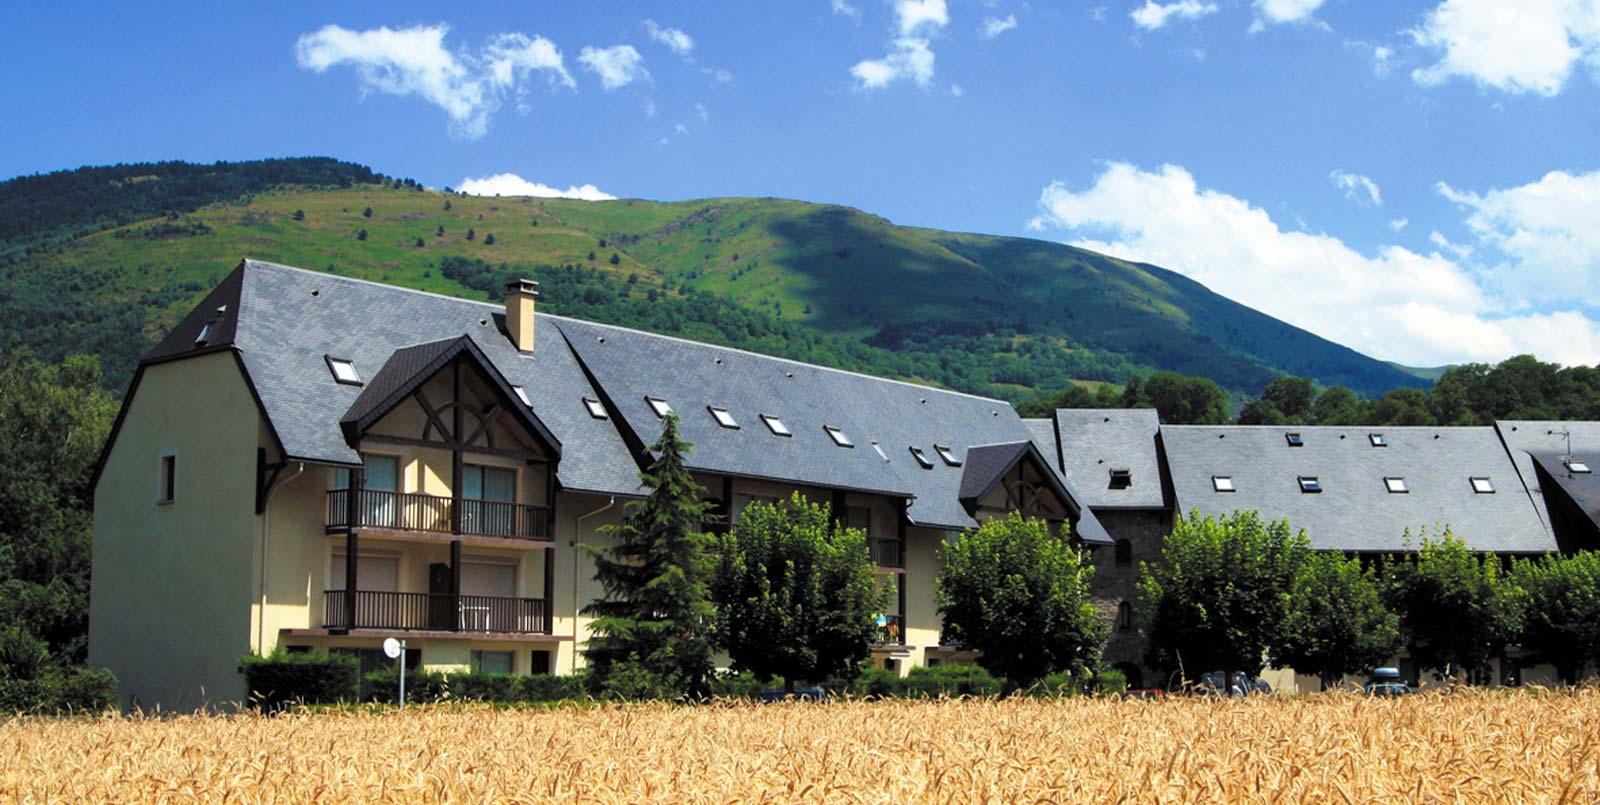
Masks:
[[[1445,0],[1410,34],[1440,53],[1437,64],[1411,72],[1422,86],[1464,77],[1507,93],[1554,96],[1574,64],[1600,70],[1597,0]]]

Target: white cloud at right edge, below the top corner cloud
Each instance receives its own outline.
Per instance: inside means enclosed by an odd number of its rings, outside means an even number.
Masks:
[[[1485,194],[1440,182],[1438,192],[1469,213],[1467,229],[1502,258],[1494,274],[1512,304],[1600,306],[1600,171],[1552,171]]]

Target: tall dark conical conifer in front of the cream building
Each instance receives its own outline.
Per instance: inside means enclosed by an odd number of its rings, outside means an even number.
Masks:
[[[669,413],[640,474],[650,496],[627,504],[622,525],[602,528],[614,546],[586,546],[606,592],[584,607],[595,616],[584,656],[602,691],[626,698],[710,691],[714,539],[702,531],[704,490],[683,466],[693,447]]]

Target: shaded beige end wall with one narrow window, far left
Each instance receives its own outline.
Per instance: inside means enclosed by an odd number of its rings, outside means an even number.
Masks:
[[[259,415],[230,354],[147,366],[94,490],[90,664],[123,704],[237,701],[250,650]],[[157,503],[160,456],[176,498]]]

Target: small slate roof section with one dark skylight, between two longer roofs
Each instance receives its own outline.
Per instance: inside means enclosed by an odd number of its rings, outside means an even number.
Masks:
[[[1061,471],[1093,509],[1166,509],[1155,408],[1061,408],[1054,415]],[[1110,471],[1133,483],[1114,490]]]

